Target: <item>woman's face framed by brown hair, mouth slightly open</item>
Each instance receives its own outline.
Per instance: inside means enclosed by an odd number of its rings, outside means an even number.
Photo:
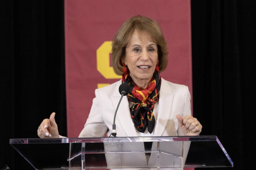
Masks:
[[[157,44],[148,34],[135,30],[125,50],[124,62],[134,83],[150,81],[158,62]]]

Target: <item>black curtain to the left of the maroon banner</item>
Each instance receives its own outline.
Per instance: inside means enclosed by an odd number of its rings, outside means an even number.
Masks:
[[[38,138],[53,111],[66,135],[64,3],[0,1],[0,23],[0,169],[33,169],[9,138]]]

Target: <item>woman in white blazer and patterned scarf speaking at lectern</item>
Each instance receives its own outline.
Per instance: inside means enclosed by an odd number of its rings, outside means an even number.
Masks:
[[[116,115],[118,137],[199,135],[200,122],[191,116],[187,86],[164,80],[167,45],[158,24],[144,16],[123,23],[112,42],[112,65],[122,80],[95,90],[89,117],[79,137],[110,136],[121,95],[119,86],[129,85],[127,97]],[[59,138],[55,113],[37,129],[40,138]]]

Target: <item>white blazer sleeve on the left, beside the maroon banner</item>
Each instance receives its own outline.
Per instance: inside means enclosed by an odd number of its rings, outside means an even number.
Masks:
[[[83,137],[104,137],[108,127],[103,121],[101,98],[98,89],[95,90],[95,98],[92,100],[91,111],[84,129],[81,131],[79,138]]]

